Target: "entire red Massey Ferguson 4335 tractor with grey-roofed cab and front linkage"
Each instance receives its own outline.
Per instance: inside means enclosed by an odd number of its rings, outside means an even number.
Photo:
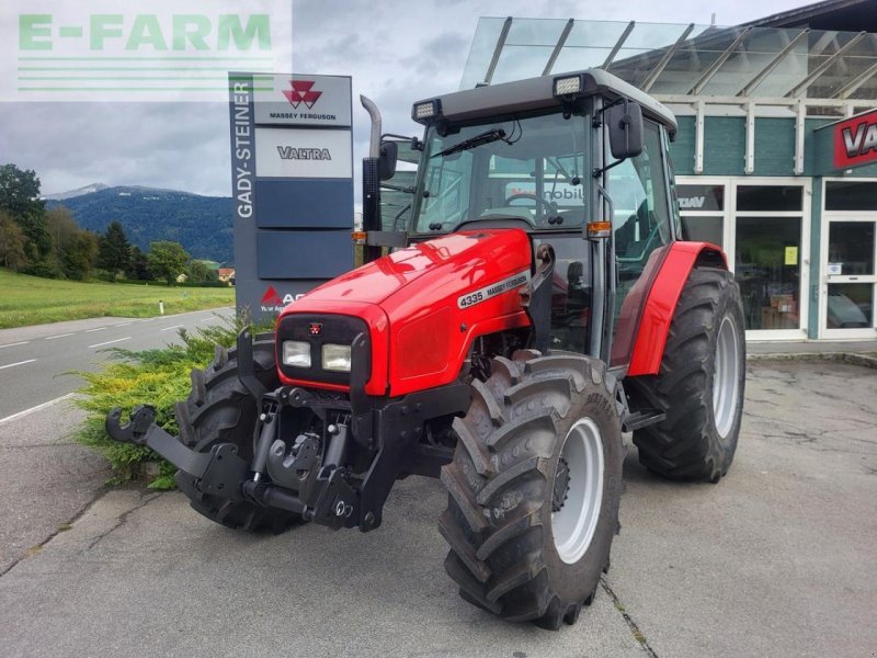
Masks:
[[[419,101],[410,208],[381,231],[399,143],[363,103],[368,262],[193,371],[180,436],[148,406],[107,433],[244,530],[373,531],[396,480],[438,478],[460,595],[572,624],[619,529],[623,432],[649,470],[717,483],[740,431],[740,293],[719,247],[683,238],[674,117],[603,70]]]

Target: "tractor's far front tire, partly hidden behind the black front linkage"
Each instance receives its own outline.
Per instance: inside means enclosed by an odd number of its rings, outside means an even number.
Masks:
[[[253,370],[269,390],[280,386],[274,364],[274,340],[270,334],[253,341]],[[209,452],[218,443],[234,443],[244,461],[253,457],[258,400],[238,379],[237,349],[217,345],[213,363],[192,371],[192,392],[176,402],[180,440],[197,452]],[[192,509],[227,527],[283,532],[303,522],[300,515],[263,508],[250,501],[231,501],[209,496],[195,486],[195,478],[176,472],[176,486],[190,499]]]

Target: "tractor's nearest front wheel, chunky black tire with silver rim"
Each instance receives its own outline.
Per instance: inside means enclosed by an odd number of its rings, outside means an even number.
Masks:
[[[460,595],[510,621],[572,624],[618,531],[620,423],[613,379],[578,354],[494,359],[454,421],[440,531]]]

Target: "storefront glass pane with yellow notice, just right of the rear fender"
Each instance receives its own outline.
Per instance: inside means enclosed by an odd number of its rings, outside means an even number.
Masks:
[[[747,329],[800,327],[800,217],[737,217],[736,277]]]

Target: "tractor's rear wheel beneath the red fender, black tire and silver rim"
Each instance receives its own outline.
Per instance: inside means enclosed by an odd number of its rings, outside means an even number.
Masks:
[[[745,387],[743,305],[733,275],[694,270],[676,305],[658,375],[631,377],[636,406],[667,413],[634,432],[640,463],[672,479],[718,483],[737,450]]]

